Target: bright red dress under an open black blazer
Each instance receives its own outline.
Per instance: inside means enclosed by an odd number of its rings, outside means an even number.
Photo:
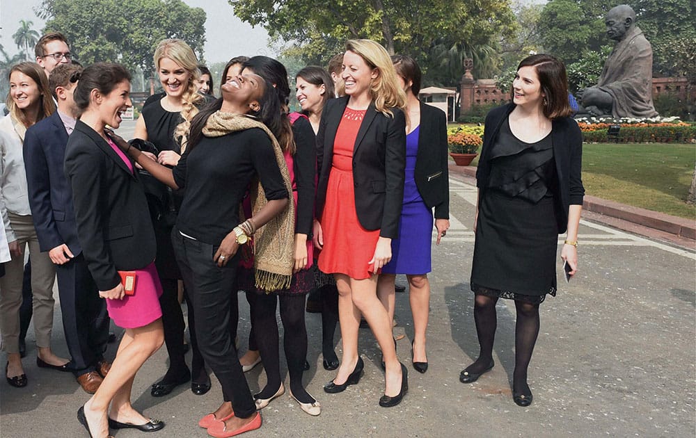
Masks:
[[[324,248],[319,254],[319,269],[354,279],[372,276],[369,262],[379,238],[379,229],[363,228],[355,209],[353,148],[365,112],[346,108],[338,124],[321,219]]]

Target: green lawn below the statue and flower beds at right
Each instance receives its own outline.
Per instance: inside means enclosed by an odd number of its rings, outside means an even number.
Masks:
[[[477,165],[478,157],[472,165]],[[696,219],[686,204],[696,145],[663,143],[583,145],[585,193],[606,200]]]

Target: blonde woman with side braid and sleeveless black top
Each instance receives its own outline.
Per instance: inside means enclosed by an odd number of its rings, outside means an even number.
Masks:
[[[162,40],[155,49],[155,66],[164,92],[152,95],[143,106],[142,117],[136,122],[135,138],[148,140],[157,147],[156,158],[160,164],[173,167],[186,149],[185,133],[191,119],[198,113],[198,106],[206,99],[197,92],[199,76],[196,55],[182,40]],[[183,143],[183,144],[182,144]],[[155,181],[149,175],[143,177],[148,189],[148,204],[152,225],[157,236],[157,273],[164,293],[159,298],[162,308],[164,339],[169,355],[169,369],[161,380],[152,384],[153,397],[166,396],[179,385],[191,380],[191,391],[198,396],[210,389],[210,378],[205,370],[203,356],[196,342],[196,325],[193,306],[187,300],[189,332],[191,332],[191,371],[184,360],[184,315],[178,300],[178,280],[181,273],[174,257],[171,230],[181,204],[182,194]],[[154,194],[154,195],[153,195]]]

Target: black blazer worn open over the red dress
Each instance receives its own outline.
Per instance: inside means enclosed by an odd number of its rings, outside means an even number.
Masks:
[[[326,201],[326,186],[333,161],[333,142],[348,97],[330,99],[324,106],[317,133],[317,217]],[[365,229],[379,229],[379,235],[399,236],[399,219],[404,202],[406,168],[406,119],[399,108],[393,117],[378,113],[374,102],[367,108],[353,149],[353,179],[358,220]]]

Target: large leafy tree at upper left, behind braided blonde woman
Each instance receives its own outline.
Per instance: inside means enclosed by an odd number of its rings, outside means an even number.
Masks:
[[[205,11],[182,0],[43,0],[45,31],[61,31],[80,62],[118,62],[152,76],[152,54],[165,38],[181,38],[203,62]]]

